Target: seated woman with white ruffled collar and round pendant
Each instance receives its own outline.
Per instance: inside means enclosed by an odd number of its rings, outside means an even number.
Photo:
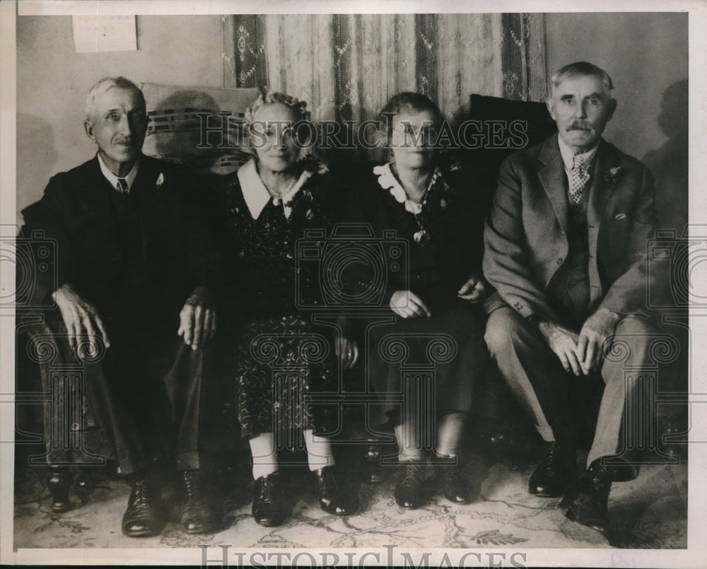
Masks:
[[[472,492],[457,451],[475,377],[488,361],[481,307],[483,213],[474,204],[469,177],[458,165],[443,165],[433,148],[443,121],[437,105],[418,93],[400,93],[379,121],[394,160],[355,185],[346,219],[368,223],[381,239],[394,231],[386,254],[395,257],[395,240],[403,240],[409,258],[398,254],[399,267],[385,259],[381,298],[395,321],[372,322],[368,329],[366,373],[380,397],[371,418],[395,431],[400,506],[419,508],[424,502],[426,447],[436,454],[445,497],[468,503]],[[346,280],[352,295],[382,282],[363,264]]]

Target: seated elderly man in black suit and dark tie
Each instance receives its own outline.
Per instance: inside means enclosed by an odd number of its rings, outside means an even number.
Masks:
[[[89,343],[102,354],[86,362],[83,389],[115,445],[119,471],[132,476],[122,531],[162,531],[158,465],[171,454],[180,471],[182,527],[201,533],[216,523],[204,499],[198,427],[218,269],[192,177],[141,154],[147,123],[134,83],[96,83],[85,128],[98,153],[49,180],[42,199],[23,210],[21,233],[42,230],[56,242],[53,270],[37,271],[33,294],[40,303],[54,299],[55,321],[65,327],[57,338],[72,350]]]

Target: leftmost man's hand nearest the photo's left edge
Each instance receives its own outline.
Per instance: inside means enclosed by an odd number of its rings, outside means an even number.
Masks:
[[[81,298],[74,287],[69,283],[64,283],[52,293],[54,302],[57,303],[59,311],[62,312],[62,319],[66,326],[66,334],[69,336],[69,346],[76,349],[81,338],[88,338],[91,353],[97,350],[95,341],[97,338],[103,340],[106,348],[110,347],[103,320],[98,316],[95,307]]]

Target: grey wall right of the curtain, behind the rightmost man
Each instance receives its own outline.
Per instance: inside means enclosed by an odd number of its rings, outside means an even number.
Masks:
[[[604,136],[656,178],[662,226],[687,220],[686,13],[549,13],[547,69],[591,61],[614,81],[619,105]]]

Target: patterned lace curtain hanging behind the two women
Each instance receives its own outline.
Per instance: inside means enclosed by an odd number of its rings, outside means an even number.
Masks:
[[[279,90],[315,122],[372,119],[413,90],[452,119],[469,95],[542,100],[542,14],[223,16],[226,87]]]

